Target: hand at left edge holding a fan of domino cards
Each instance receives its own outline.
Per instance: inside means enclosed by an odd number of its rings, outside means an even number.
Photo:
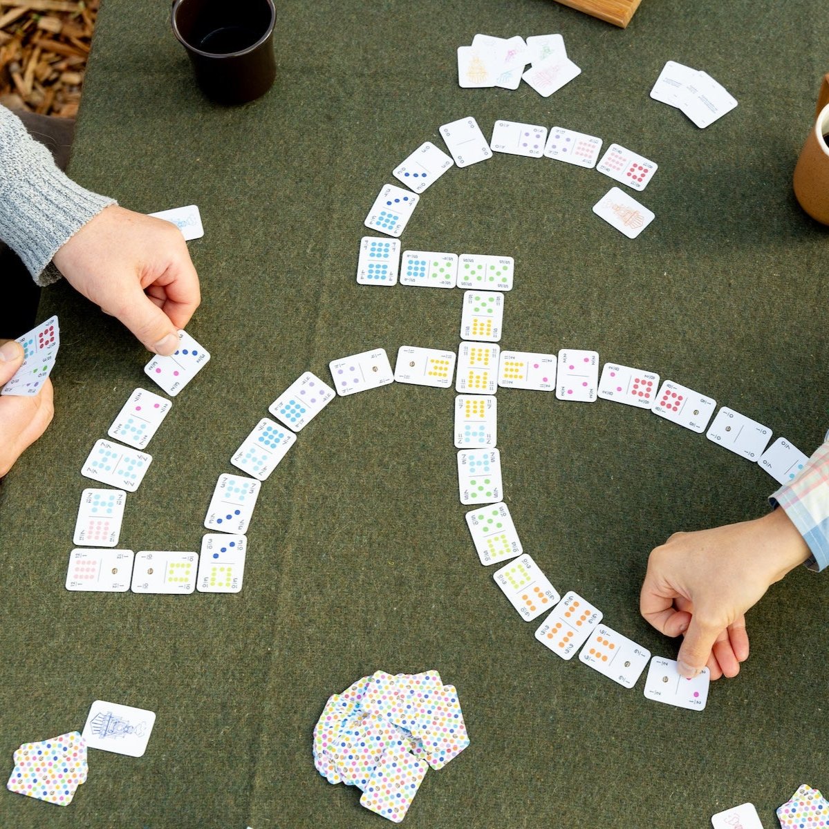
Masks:
[[[10,340],[0,346],[0,386],[12,379],[22,362],[23,347],[19,342]],[[54,412],[48,379],[37,395],[0,396],[0,478],[46,431]]]

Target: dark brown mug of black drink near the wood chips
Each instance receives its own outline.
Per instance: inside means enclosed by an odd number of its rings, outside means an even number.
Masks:
[[[273,0],[175,0],[172,19],[209,98],[245,104],[271,89],[276,78]]]

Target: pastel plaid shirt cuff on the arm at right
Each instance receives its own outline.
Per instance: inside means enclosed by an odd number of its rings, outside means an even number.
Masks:
[[[782,507],[812,550],[809,570],[829,566],[829,432],[791,483],[780,487],[768,501]]]

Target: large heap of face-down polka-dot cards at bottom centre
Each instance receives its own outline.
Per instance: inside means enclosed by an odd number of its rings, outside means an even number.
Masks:
[[[427,768],[443,768],[467,745],[457,691],[437,671],[377,671],[329,697],[314,729],[314,764],[329,783],[361,789],[361,806],[398,823]]]

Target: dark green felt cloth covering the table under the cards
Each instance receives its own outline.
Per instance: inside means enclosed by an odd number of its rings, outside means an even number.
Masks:
[[[401,345],[454,349],[460,290],[355,283],[363,219],[441,124],[562,125],[659,164],[637,240],[592,214],[595,170],[495,155],[428,189],[402,249],[515,259],[502,347],[590,348],[767,424],[807,454],[827,428],[829,233],[791,179],[827,66],[823,0],[645,0],[620,30],[547,0],[280,2],[278,76],[241,108],[207,102],[167,0],[105,0],[71,175],[137,211],[197,204],[189,244],[212,353],[149,444],[119,546],[198,550],[218,475],[301,372]],[[583,74],[541,98],[462,90],[476,32],[562,32]],[[667,60],[739,100],[700,130],[648,93]],[[0,768],[82,728],[96,699],[154,710],[141,759],[90,751],[67,808],[0,793],[0,826],[379,827],[316,773],[329,694],[377,669],[457,686],[471,746],[430,771],[416,827],[705,827],[754,802],[766,827],[800,783],[829,788],[829,582],[798,569],[748,617],[752,654],[704,712],[617,686],[534,639],[480,565],[457,497],[453,390],[394,384],[334,400],[262,486],[240,594],[64,589],[79,470],[147,354],[66,284],[56,419],[0,488]],[[151,384],[150,384],[151,385]],[[760,516],[762,468],[646,411],[498,393],[505,500],[563,594],[656,655],[640,618],[648,552],[677,530]]]

